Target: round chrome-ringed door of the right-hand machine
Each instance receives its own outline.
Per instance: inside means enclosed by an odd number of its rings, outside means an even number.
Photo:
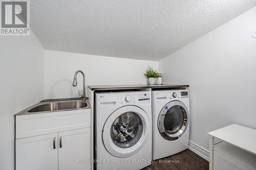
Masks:
[[[188,126],[188,110],[181,101],[167,103],[158,116],[158,130],[166,140],[177,140]]]

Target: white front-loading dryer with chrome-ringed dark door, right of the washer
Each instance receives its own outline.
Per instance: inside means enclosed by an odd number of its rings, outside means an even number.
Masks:
[[[188,90],[152,91],[153,159],[188,148]]]

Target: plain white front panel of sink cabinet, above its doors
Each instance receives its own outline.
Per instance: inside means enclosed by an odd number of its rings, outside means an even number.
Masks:
[[[91,109],[15,116],[16,139],[91,127]]]

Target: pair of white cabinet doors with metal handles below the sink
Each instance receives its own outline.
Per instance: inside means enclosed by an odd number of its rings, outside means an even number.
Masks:
[[[16,170],[89,170],[91,128],[16,140]]]

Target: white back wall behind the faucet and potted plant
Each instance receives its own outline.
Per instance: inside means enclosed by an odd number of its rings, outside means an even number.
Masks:
[[[82,76],[79,74],[74,88],[76,70],[86,75],[86,86],[146,84],[143,73],[147,66],[158,69],[158,62],[45,51],[45,99],[77,97]]]

